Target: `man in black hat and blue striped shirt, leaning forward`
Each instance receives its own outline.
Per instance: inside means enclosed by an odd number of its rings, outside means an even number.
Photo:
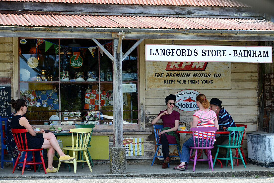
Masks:
[[[212,98],[210,100],[210,107],[212,111],[214,111],[217,115],[218,123],[219,123],[219,131],[228,131],[227,128],[236,126],[234,120],[230,116],[230,114],[227,112],[226,109],[222,107],[222,101],[218,98]],[[233,133],[231,134],[233,136]],[[217,146],[220,144],[228,144],[229,143],[229,134],[220,134],[219,137],[216,137],[216,142],[214,143],[214,148],[211,150],[212,154],[216,154]],[[219,154],[222,154],[224,157],[226,157],[226,148],[220,148]],[[219,155],[218,154],[218,155]],[[235,157],[235,155],[232,153],[232,156]],[[235,165],[236,159],[233,159],[233,165]],[[231,164],[228,164],[231,166]]]

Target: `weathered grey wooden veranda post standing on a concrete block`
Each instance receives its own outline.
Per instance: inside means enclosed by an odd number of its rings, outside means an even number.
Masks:
[[[119,39],[113,39],[113,147],[123,146],[123,93],[122,93],[122,43],[117,53]]]

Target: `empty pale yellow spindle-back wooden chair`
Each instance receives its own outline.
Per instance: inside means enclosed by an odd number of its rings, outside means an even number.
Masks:
[[[87,156],[87,145],[89,142],[89,137],[90,137],[92,128],[73,128],[73,129],[70,129],[70,131],[72,132],[72,147],[62,147],[61,149],[63,150],[63,152],[64,152],[64,150],[73,151],[73,157],[75,157],[75,159],[73,161],[64,161],[64,163],[73,163],[74,173],[76,173],[76,163],[77,162],[87,162],[87,164],[89,165],[90,172],[92,172],[92,169],[91,169],[90,163],[89,163],[89,157]],[[73,133],[77,133],[76,146],[74,146],[74,134]],[[76,159],[77,151],[84,152],[85,160]],[[59,164],[58,164],[57,171],[59,171],[60,165],[61,165],[61,162],[59,162]]]

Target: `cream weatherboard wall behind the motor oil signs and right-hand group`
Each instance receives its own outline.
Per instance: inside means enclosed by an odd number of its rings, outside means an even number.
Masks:
[[[246,42],[249,46],[257,46],[257,42]],[[189,45],[233,45],[244,46],[244,42],[229,41],[176,41],[174,44]],[[140,46],[140,66],[145,66],[145,44],[172,44],[169,40],[144,40]],[[143,62],[143,63],[142,63]],[[145,80],[145,67],[140,67],[140,82]],[[256,63],[231,63],[231,89],[196,89],[197,91],[211,98],[219,98],[222,106],[229,112],[236,124],[246,124],[246,132],[256,131],[258,115],[258,64]],[[145,129],[152,130],[151,122],[158,115],[159,111],[166,109],[165,96],[175,94],[178,90],[145,90]],[[191,89],[191,88],[182,88]],[[187,123],[192,120],[192,112],[180,111],[180,122]],[[160,122],[161,120],[159,120]],[[154,150],[154,149],[153,149]],[[246,136],[244,137],[243,150],[247,156]]]

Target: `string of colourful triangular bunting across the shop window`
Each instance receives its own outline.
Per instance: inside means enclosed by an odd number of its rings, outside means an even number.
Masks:
[[[55,54],[57,55],[59,52],[59,44],[56,43],[52,43],[50,41],[46,41],[44,39],[36,39],[36,48],[38,48],[43,42],[45,42],[45,51],[47,51],[52,45],[54,45],[54,50],[55,50]],[[111,53],[112,51],[112,41],[102,44],[103,47],[106,47],[107,50]],[[92,46],[92,47],[68,47],[65,45],[60,45],[60,49],[63,49],[64,55],[66,56],[69,49],[71,48],[73,52],[77,52],[79,49],[83,55],[83,57],[85,58],[87,49],[89,49],[90,53],[92,54],[92,56],[94,57],[95,54],[95,49],[99,49],[98,46]],[[104,51],[102,49],[99,50],[101,55],[104,54]]]

